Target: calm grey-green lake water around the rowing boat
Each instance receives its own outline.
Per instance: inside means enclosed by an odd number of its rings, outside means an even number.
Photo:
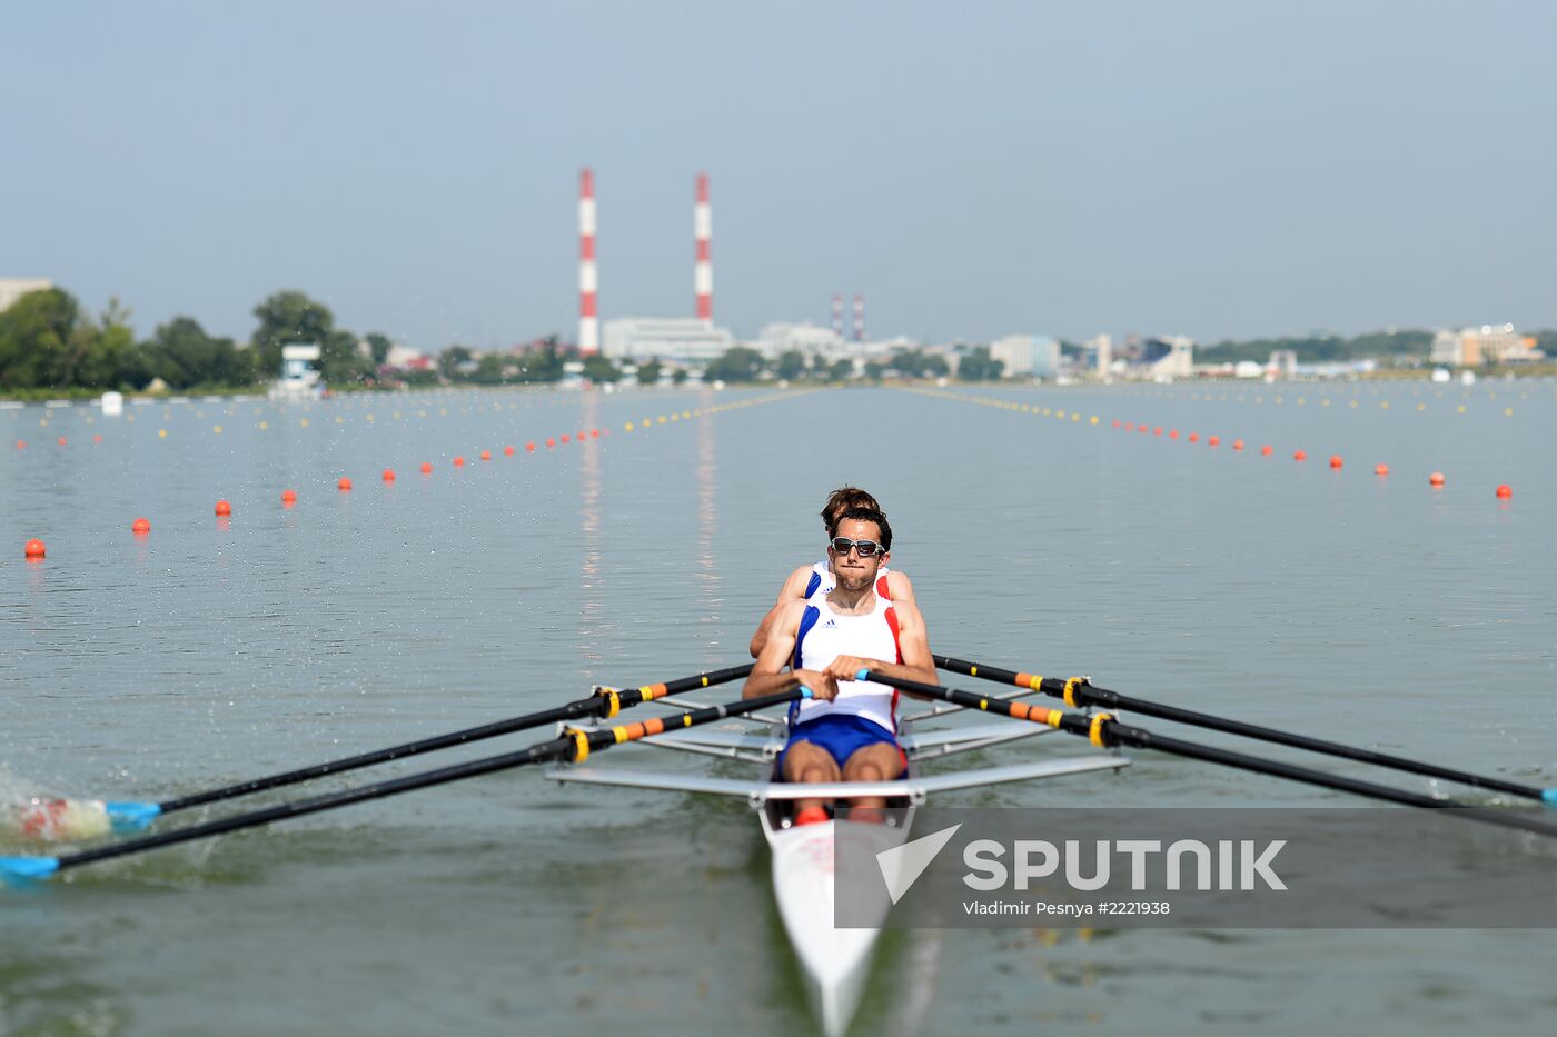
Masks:
[[[1554,442],[1551,381],[0,410],[0,803],[168,799],[736,665],[845,481],[886,506],[939,652],[1557,785]],[[1138,755],[937,802],[1356,800]],[[0,1034],[810,1032],[768,866],[740,802],[462,782],[0,889]],[[1548,1031],[1554,953],[894,933],[855,1032]]]

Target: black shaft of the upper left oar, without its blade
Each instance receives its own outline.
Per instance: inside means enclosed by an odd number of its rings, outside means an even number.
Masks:
[[[668,680],[663,684],[645,685],[641,688],[620,691],[618,698],[623,707],[637,705],[648,699],[665,698],[666,694],[676,694],[679,691],[691,691],[693,688],[708,688],[716,684],[736,680],[740,677],[744,677],[750,671],[752,671],[752,663],[747,663],[744,666],[730,666],[727,670],[715,670],[712,673],[694,674],[691,677],[680,677],[677,680]],[[248,782],[238,782],[235,785],[226,785],[223,788],[213,788],[204,793],[195,793],[192,796],[170,799],[165,803],[157,803],[157,807],[160,807],[163,814],[170,814],[176,810],[188,810],[190,807],[202,807],[206,803],[216,803],[227,799],[237,799],[240,796],[263,793],[272,788],[297,785],[299,782],[311,782],[313,779],[327,777],[330,774],[343,774],[346,771],[355,771],[358,768],[374,766],[375,763],[402,760],[405,757],[414,757],[424,752],[433,752],[434,749],[448,749],[450,746],[461,746],[470,741],[481,741],[483,738],[497,738],[498,735],[511,735],[518,730],[545,727],[548,724],[557,724],[564,721],[584,719],[587,716],[604,716],[607,710],[609,710],[609,701],[606,698],[590,696],[587,699],[578,699],[575,702],[568,702],[565,705],[559,705],[550,710],[540,710],[539,713],[512,716],[509,719],[494,721],[490,724],[481,724],[478,727],[467,727],[464,730],[450,732],[447,735],[434,735],[431,738],[422,738],[420,741],[408,741],[400,746],[378,749],[375,752],[364,752],[355,757],[330,760],[329,763],[316,763],[308,768],[297,768],[296,771],[285,771],[282,774],[271,774],[268,777],[251,779]]]

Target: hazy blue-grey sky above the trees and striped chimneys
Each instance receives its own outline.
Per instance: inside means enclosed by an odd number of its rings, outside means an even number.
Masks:
[[[0,276],[244,339],[1557,325],[1554,3],[11,3]]]

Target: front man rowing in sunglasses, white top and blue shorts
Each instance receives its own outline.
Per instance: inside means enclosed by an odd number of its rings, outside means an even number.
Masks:
[[[912,601],[877,590],[892,547],[886,515],[845,508],[828,533],[833,589],[780,609],[741,694],[810,688],[813,698],[789,712],[789,741],[778,755],[785,782],[891,782],[906,766],[897,744],[897,690],[855,677],[877,670],[887,679],[937,684],[930,637]],[[853,816],[869,819],[884,805],[884,797],[861,796]],[[819,821],[827,821],[822,799],[796,802],[794,824]]]

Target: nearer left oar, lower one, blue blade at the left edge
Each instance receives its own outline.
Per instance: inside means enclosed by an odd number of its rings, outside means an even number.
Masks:
[[[188,825],[187,828],[173,828],[170,831],[159,831],[156,835],[140,836],[139,839],[112,842],[109,845],[101,845],[92,850],[81,850],[79,853],[67,853],[62,856],[0,856],[0,884],[11,880],[26,881],[26,880],[48,878],[50,875],[56,875],[72,867],[81,867],[83,864],[93,864],[97,861],[111,861],[114,858],[131,856],[134,853],[145,853],[146,850],[156,850],[165,845],[177,845],[179,842],[206,839],[210,836],[224,835],[227,831],[257,828],[258,825],[266,825],[271,824],[272,821],[302,817],[305,814],[318,814],[325,810],[349,807],[350,803],[361,803],[371,799],[400,796],[402,793],[411,793],[419,788],[431,788],[434,785],[461,782],[464,779],[480,777],[483,774],[495,774],[497,771],[509,771],[512,768],[525,766],[526,763],[553,763],[557,760],[565,760],[568,763],[581,763],[592,752],[603,752],[606,749],[610,749],[612,746],[618,746],[629,741],[638,741],[640,738],[659,735],[660,732],[665,730],[698,727],[699,724],[712,724],[727,716],[743,716],[755,710],[768,708],[769,705],[785,705],[786,702],[793,702],[794,699],[810,698],[810,696],[811,691],[808,688],[791,688],[789,691],[778,691],[775,694],[768,694],[757,699],[743,699],[738,702],[730,702],[727,705],[708,705],[701,710],[693,710],[690,713],[679,713],[674,716],[655,716],[646,721],[638,721],[635,724],[626,724],[620,727],[606,727],[596,730],[568,729],[559,738],[553,738],[551,741],[542,741],[534,746],[529,746],[528,749],[520,749],[517,752],[504,752],[503,755],[497,757],[484,757],[481,760],[456,763],[453,766],[441,768],[438,771],[422,771],[420,774],[408,774],[405,777],[375,782],[372,785],[363,785],[361,788],[352,788],[341,793],[330,793],[327,796],[315,796],[313,799],[299,799],[288,803],[277,803],[274,807],[266,807],[265,810],[255,810],[246,814],[223,817],[220,821],[207,821],[198,825]]]

